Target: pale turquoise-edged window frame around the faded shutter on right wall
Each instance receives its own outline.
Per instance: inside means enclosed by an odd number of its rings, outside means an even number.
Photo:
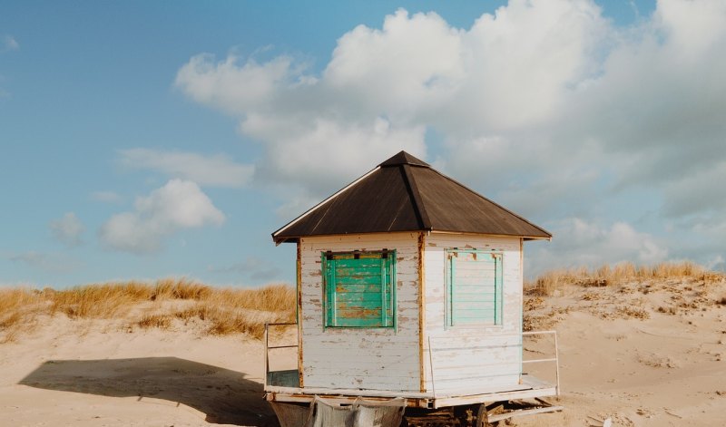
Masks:
[[[466,253],[466,254],[476,254],[475,257],[478,257],[480,255],[482,256],[490,256],[493,259],[493,262],[495,264],[494,266],[494,296],[495,300],[493,302],[493,314],[488,318],[488,320],[484,321],[471,321],[471,322],[462,322],[461,320],[456,320],[456,306],[455,306],[455,296],[456,296],[456,283],[455,283],[455,277],[456,277],[456,257],[455,254],[458,253]],[[502,251],[497,250],[487,250],[487,249],[477,249],[475,248],[463,248],[460,249],[458,247],[449,247],[446,248],[444,251],[446,260],[445,260],[445,277],[446,277],[446,305],[445,305],[445,322],[446,322],[446,328],[472,328],[472,327],[502,327],[504,325],[503,319],[504,319],[504,253]]]

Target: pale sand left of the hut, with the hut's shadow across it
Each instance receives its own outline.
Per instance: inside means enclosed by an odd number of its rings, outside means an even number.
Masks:
[[[45,319],[0,345],[0,425],[270,425],[263,350],[243,335]],[[274,421],[272,422],[274,425]]]

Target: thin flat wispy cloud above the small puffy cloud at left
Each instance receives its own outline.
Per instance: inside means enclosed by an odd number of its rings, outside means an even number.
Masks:
[[[125,167],[156,170],[201,186],[241,187],[254,173],[254,166],[237,163],[222,154],[203,156],[193,152],[141,148],[121,150],[119,154]]]

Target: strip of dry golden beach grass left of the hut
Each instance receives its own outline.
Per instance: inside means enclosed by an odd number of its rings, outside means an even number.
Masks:
[[[200,320],[211,335],[260,338],[265,322],[294,320],[295,292],[286,285],[215,288],[181,279],[105,283],[69,289],[0,288],[0,343],[18,339],[39,316],[123,320],[128,328],[169,328]]]

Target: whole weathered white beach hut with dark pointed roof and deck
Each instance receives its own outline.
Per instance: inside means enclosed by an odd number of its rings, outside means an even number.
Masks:
[[[267,345],[270,402],[558,392],[522,357],[523,245],[552,235],[426,162],[401,151],[272,238],[298,249],[298,366],[270,370]]]

